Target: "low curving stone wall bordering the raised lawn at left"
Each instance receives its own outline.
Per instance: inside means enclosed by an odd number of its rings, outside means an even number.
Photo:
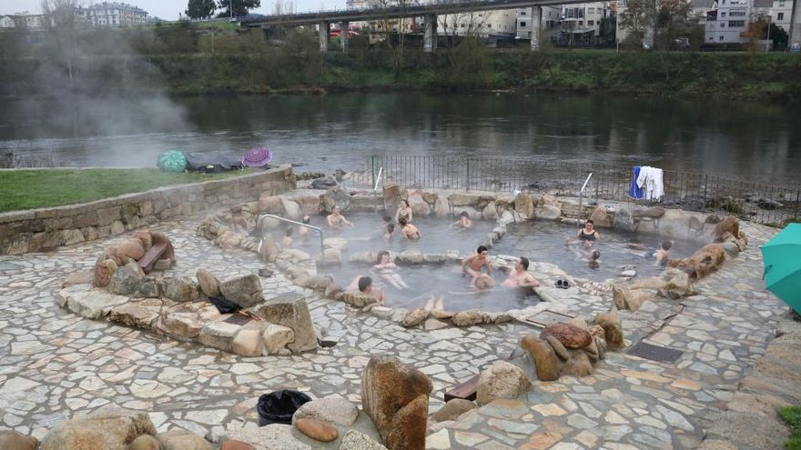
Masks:
[[[0,214],[0,255],[77,244],[180,215],[253,201],[295,189],[290,165],[258,174],[171,185],[91,203]]]

